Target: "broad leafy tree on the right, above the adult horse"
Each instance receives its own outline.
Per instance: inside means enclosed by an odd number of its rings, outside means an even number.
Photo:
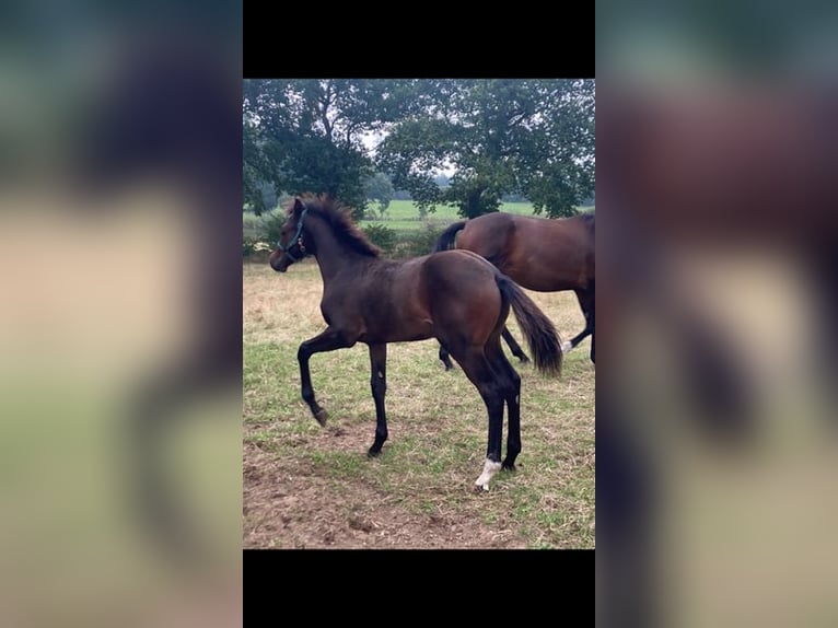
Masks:
[[[593,80],[428,80],[377,150],[381,170],[422,210],[457,205],[472,218],[507,194],[536,212],[571,216],[595,183]],[[453,167],[442,189],[431,173]]]

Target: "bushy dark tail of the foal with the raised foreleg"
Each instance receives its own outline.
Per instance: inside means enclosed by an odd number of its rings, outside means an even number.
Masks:
[[[517,324],[529,345],[535,368],[549,375],[560,374],[561,339],[552,322],[512,279],[498,271],[494,281],[504,301],[512,306]]]

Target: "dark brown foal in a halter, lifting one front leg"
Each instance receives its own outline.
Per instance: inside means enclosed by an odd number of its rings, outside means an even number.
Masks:
[[[552,374],[560,372],[562,358],[556,329],[521,288],[474,253],[451,251],[403,261],[382,259],[379,254],[352,224],[347,208],[330,198],[306,195],[290,203],[270,266],[284,272],[294,261],[313,255],[323,276],[321,312],[328,324],[325,332],[300,345],[302,397],[314,418],[325,425],[326,411],[314,398],[309,359],[358,341],[369,345],[376,418],[369,455],[376,456],[387,440],[387,342],[437,338],[486,404],[489,441],[475,488],[488,490],[501,466],[514,470],[521,452],[521,377],[500,346],[510,307],[536,368]],[[501,465],[504,404],[509,434]]]

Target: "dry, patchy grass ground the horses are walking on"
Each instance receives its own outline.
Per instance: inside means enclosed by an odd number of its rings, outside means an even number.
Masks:
[[[243,274],[245,547],[594,547],[590,339],[566,356],[559,379],[514,362],[517,472],[475,495],[486,408],[462,370],[444,371],[435,341],[388,346],[389,440],[368,460],[375,411],[365,345],[312,359],[326,428],[300,397],[296,349],[325,328],[315,263],[286,275],[245,264]],[[562,339],[582,329],[572,292],[529,294]],[[521,339],[512,316],[510,329]],[[505,429],[503,438],[505,451]]]

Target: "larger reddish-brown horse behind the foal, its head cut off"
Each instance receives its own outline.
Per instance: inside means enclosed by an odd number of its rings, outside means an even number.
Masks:
[[[594,359],[594,214],[549,220],[487,213],[455,222],[442,232],[434,251],[473,251],[528,290],[558,292],[573,290],[585,316],[585,328],[562,346],[569,351],[591,336],[591,361]],[[503,338],[522,362],[526,354],[503,328]],[[440,360],[452,368],[447,351],[440,348]]]

